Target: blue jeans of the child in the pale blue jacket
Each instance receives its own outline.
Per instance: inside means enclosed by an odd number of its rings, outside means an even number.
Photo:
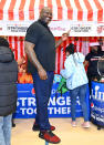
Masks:
[[[86,97],[86,84],[79,86],[74,90],[70,90],[70,95],[71,95],[71,116],[72,121],[75,121],[75,105],[76,105],[76,97],[79,96],[80,103],[82,105],[82,112],[83,112],[83,117],[84,121],[89,121],[89,112],[87,112],[87,106],[85,102]]]

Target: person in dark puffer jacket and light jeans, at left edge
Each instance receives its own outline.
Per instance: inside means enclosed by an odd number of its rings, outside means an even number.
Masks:
[[[0,37],[0,145],[11,144],[11,118],[17,108],[18,63],[9,42]]]

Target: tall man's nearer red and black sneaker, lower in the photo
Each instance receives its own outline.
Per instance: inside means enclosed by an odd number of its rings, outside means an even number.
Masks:
[[[40,132],[39,137],[53,144],[58,144],[61,142],[61,139],[55,134],[53,134],[52,131]]]

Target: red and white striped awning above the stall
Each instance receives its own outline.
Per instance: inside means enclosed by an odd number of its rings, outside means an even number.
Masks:
[[[0,21],[37,20],[44,6],[53,20],[104,22],[104,0],[0,0]]]

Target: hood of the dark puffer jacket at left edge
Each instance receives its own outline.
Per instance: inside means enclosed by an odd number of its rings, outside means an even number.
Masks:
[[[13,61],[13,53],[8,46],[0,46],[0,62],[11,62]]]

